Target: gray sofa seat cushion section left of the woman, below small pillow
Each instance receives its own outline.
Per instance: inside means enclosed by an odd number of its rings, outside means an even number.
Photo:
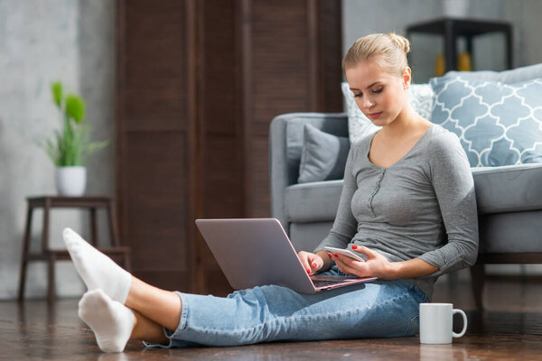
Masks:
[[[290,222],[335,219],[343,180],[294,184],[285,190],[285,213]]]

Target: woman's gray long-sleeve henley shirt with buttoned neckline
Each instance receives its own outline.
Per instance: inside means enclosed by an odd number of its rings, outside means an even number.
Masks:
[[[325,245],[365,245],[390,262],[419,258],[439,271],[406,279],[427,297],[439,275],[471,266],[478,255],[478,218],[469,162],[458,137],[431,125],[388,168],[369,161],[374,134],[353,143],[337,217]]]

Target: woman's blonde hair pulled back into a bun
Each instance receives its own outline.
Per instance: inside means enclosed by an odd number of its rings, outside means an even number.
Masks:
[[[384,71],[401,76],[408,66],[406,53],[410,42],[395,32],[372,33],[358,39],[342,59],[342,70],[356,66],[360,61],[378,56],[378,63]]]

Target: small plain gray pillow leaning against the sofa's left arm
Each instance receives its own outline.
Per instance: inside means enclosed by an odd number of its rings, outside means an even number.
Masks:
[[[313,125],[304,125],[304,144],[297,182],[341,180],[349,150],[348,137],[322,132]]]

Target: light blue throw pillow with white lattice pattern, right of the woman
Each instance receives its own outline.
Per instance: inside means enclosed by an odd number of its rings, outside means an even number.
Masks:
[[[457,134],[472,167],[542,162],[542,79],[434,78],[431,121]]]

